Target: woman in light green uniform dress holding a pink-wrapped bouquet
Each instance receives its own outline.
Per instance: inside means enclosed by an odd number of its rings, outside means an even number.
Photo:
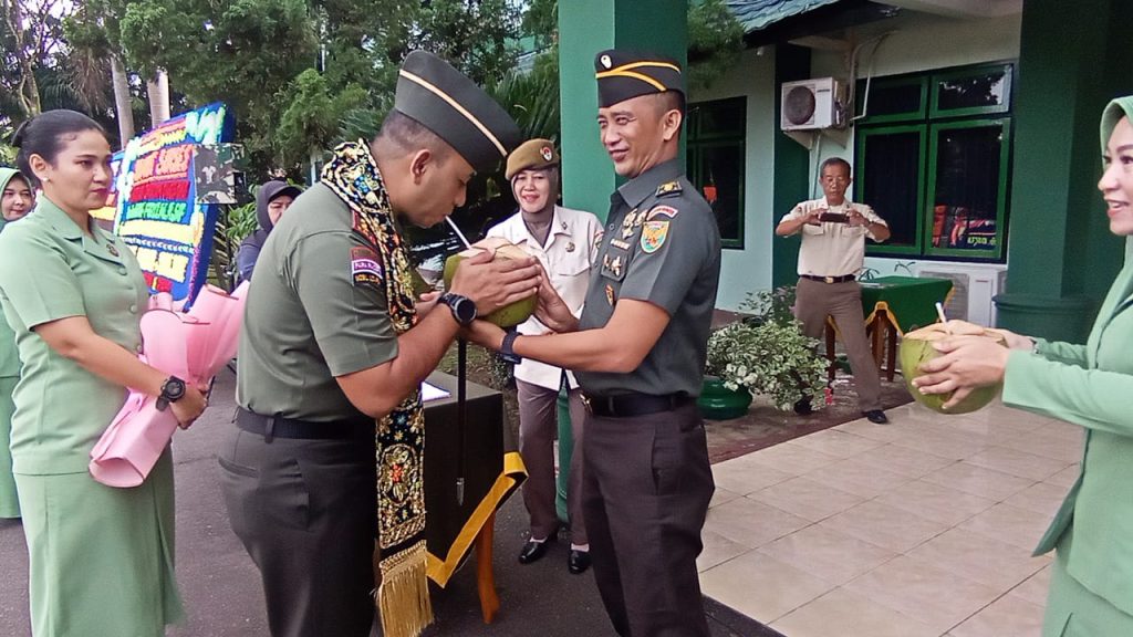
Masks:
[[[135,489],[96,483],[87,464],[125,388],[170,400],[182,426],[205,399],[137,358],[145,280],[129,248],[88,214],[104,204],[112,179],[105,133],[82,113],[49,111],[12,142],[20,172],[42,187],[35,211],[0,233],[0,304],[23,362],[11,456],[32,632],[161,636],[184,614],[173,579],[171,456],[167,450]]]

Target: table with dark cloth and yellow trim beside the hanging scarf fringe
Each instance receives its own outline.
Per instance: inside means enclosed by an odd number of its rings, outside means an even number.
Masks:
[[[476,547],[477,587],[484,621],[500,606],[492,575],[496,510],[519,489],[527,469],[505,425],[503,396],[466,384],[465,431],[458,424],[457,377],[434,372],[426,379],[448,397],[425,402],[425,543],[429,579],[444,587]],[[463,493],[458,496],[458,479]]]

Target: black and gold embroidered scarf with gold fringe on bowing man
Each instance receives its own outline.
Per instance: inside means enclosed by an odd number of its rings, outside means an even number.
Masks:
[[[377,162],[365,142],[346,143],[323,168],[322,182],[350,209],[351,231],[380,257],[390,322],[398,334],[417,322],[409,253]],[[414,390],[377,421],[377,545],[375,603],[385,637],[417,637],[433,621],[425,552],[425,410]]]

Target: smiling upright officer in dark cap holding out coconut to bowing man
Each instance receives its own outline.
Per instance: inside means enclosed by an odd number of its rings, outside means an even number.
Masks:
[[[706,637],[696,559],[714,484],[696,397],[719,231],[678,159],[681,68],[616,50],[595,67],[602,142],[629,180],[611,197],[582,315],[540,286],[537,316],[560,333],[504,336],[478,321],[474,338],[578,376],[589,411],[583,512],[617,632]]]

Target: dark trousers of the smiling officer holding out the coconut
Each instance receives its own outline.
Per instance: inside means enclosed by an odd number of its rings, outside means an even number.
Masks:
[[[588,415],[582,507],[594,577],[622,637],[708,637],[697,575],[715,484],[695,404]]]

